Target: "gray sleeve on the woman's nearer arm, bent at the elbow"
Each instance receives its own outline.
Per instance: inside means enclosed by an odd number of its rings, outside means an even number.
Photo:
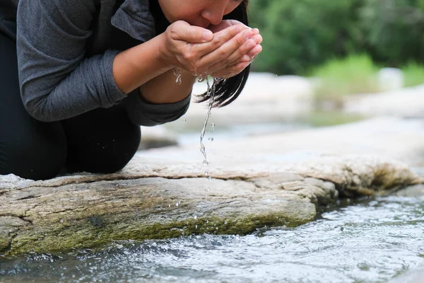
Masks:
[[[37,120],[52,122],[126,98],[112,75],[119,51],[85,57],[94,0],[20,0],[17,52],[20,93]]]

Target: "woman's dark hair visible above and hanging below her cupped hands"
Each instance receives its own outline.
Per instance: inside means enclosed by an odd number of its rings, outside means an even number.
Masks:
[[[237,20],[245,25],[249,25],[247,20],[247,3],[248,0],[242,1],[242,3],[235,8],[234,11],[224,16],[225,19]],[[223,107],[232,103],[242,92],[245,87],[247,78],[249,77],[250,65],[246,67],[240,74],[233,76],[230,79],[225,79],[218,83],[215,90],[213,107]],[[197,102],[201,103],[209,100],[210,94],[203,93],[198,96]]]

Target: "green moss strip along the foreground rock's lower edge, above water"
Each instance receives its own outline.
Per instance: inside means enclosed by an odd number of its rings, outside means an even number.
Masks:
[[[90,216],[90,219],[93,217],[100,216]],[[108,219],[107,216],[100,218]],[[246,235],[264,226],[299,226],[312,219],[314,214],[310,214],[307,219],[290,219],[284,214],[264,214],[247,215],[234,220],[211,216],[151,224],[143,224],[134,219],[120,224],[107,224],[105,221],[102,226],[93,225],[90,220],[83,219],[78,225],[67,226],[60,223],[53,226],[53,229],[35,229],[20,233],[13,239],[13,249],[8,250],[5,255],[66,252],[78,248],[95,248],[117,240],[143,241],[202,233]],[[4,246],[8,247],[9,242],[5,242]]]

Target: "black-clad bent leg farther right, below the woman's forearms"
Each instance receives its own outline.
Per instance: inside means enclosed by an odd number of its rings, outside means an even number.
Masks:
[[[131,123],[120,105],[92,110],[62,121],[62,125],[70,172],[114,173],[124,168],[139,148],[140,127]]]

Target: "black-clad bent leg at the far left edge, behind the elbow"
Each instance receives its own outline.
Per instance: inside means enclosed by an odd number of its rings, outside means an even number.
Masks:
[[[0,175],[33,180],[56,176],[66,139],[60,122],[35,120],[20,99],[16,43],[0,32]]]

